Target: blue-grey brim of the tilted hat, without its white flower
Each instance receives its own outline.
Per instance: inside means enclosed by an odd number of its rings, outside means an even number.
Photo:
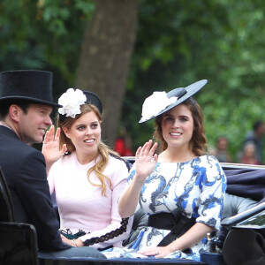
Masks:
[[[180,103],[185,102],[186,99],[188,99],[189,97],[193,96],[194,94],[196,94],[198,91],[201,90],[202,87],[204,87],[207,84],[208,80],[207,79],[202,79],[200,81],[197,81],[187,87],[178,87],[178,88],[174,88],[172,89],[169,93],[167,93],[168,98],[172,97],[172,96],[177,96],[178,99],[176,102],[170,104],[169,106],[167,106],[164,110],[160,111],[157,115],[153,116],[153,117],[149,117],[147,119],[143,119],[141,118],[139,123],[145,123],[148,120],[151,120],[155,117],[160,116],[161,114],[163,114],[164,112],[173,109],[174,107],[178,106]]]

